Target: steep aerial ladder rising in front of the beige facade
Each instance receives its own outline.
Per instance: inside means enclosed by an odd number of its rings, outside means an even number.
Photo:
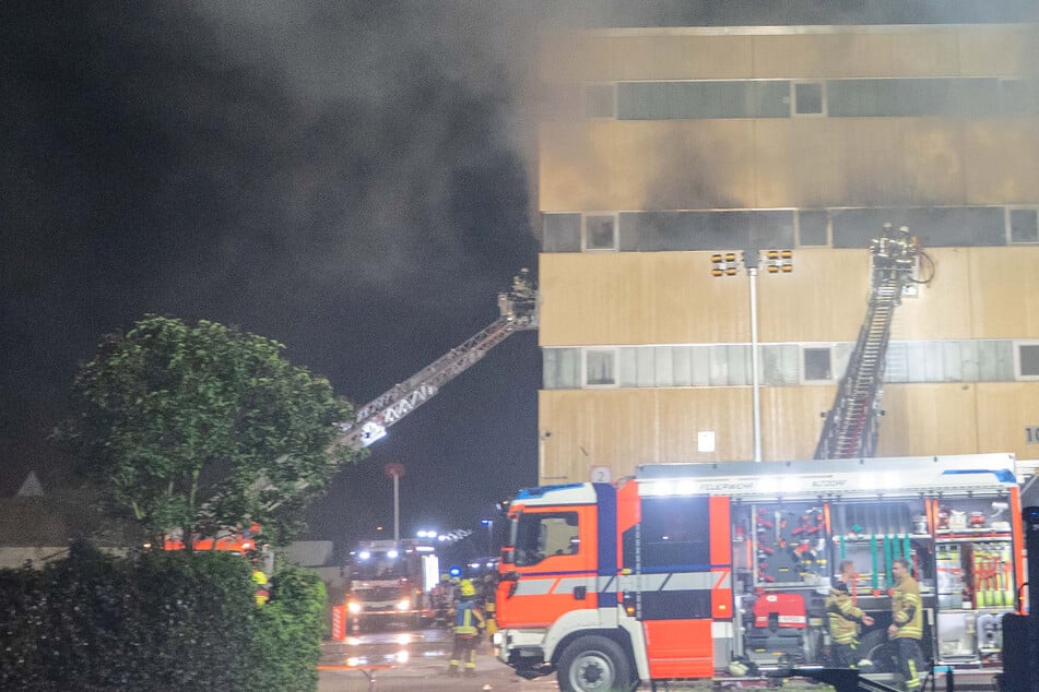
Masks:
[[[870,301],[848,370],[837,390],[834,407],[815,448],[815,458],[861,458],[876,452],[884,366],[895,308],[906,286],[917,282],[913,270],[926,256],[905,226],[884,225],[870,243],[872,275]],[[929,279],[930,281],[930,279]]]

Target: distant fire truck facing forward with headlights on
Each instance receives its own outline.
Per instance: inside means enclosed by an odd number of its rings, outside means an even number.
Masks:
[[[434,618],[430,590],[439,577],[432,545],[415,539],[364,540],[350,553],[346,617],[351,629],[402,623],[422,627]]]

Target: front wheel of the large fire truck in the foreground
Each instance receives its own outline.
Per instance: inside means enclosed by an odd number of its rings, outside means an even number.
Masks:
[[[570,642],[559,657],[557,677],[563,692],[627,692],[637,682],[621,645],[598,635]]]

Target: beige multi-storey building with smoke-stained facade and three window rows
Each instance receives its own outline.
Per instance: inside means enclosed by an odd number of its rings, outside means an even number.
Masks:
[[[811,458],[906,225],[933,278],[895,313],[879,455],[1039,456],[1039,28],[631,28],[547,38],[540,480]],[[921,278],[930,267],[921,267]]]

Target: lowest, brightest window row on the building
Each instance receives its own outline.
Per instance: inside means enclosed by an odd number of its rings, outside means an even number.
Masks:
[[[761,344],[760,383],[825,384],[845,375],[854,344]],[[744,386],[753,383],[748,344],[543,348],[546,390]],[[892,342],[885,382],[1039,381],[1039,342]]]

